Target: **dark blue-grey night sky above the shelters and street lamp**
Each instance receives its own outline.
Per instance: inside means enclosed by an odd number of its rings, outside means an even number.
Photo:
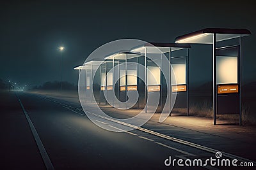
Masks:
[[[255,1],[1,1],[0,78],[19,84],[77,84],[73,67],[93,50],[123,38],[173,43],[206,27],[244,28],[243,83],[256,81]],[[204,49],[204,50],[202,50]],[[211,46],[192,45],[190,82],[211,81]]]

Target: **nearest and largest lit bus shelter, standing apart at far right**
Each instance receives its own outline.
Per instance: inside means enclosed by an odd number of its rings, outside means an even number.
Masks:
[[[225,114],[239,114],[239,125],[242,124],[242,37],[250,34],[247,29],[207,28],[175,39],[175,43],[212,45],[214,125],[216,115]]]

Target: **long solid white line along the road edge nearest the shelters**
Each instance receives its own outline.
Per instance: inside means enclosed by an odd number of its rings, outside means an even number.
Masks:
[[[36,95],[36,96],[38,96],[38,95]],[[40,96],[40,97],[42,97],[42,96]],[[42,97],[42,98],[47,99],[47,97]],[[49,101],[53,101],[53,100],[50,100],[50,99],[48,99],[48,100],[49,100]],[[56,102],[56,101],[53,101],[53,102],[59,103],[59,102]],[[68,106],[67,104],[63,104],[63,103],[59,103],[59,104]],[[72,107],[72,106],[70,106],[70,107]],[[72,107],[72,108],[74,108],[74,107]],[[79,110],[81,110],[81,109],[79,109]],[[82,111],[82,110],[81,110],[81,111]],[[148,130],[148,129],[145,129],[145,128],[142,128],[142,127],[138,127],[138,126],[135,126],[135,125],[127,124],[127,123],[125,123],[125,122],[121,122],[121,121],[115,120],[115,119],[113,119],[113,118],[103,117],[103,116],[101,116],[101,115],[97,115],[97,114],[91,113],[91,112],[89,112],[89,111],[84,111],[84,112],[90,113],[90,114],[95,115],[95,116],[100,117],[100,118],[104,118],[104,119],[106,119],[106,120],[110,120],[110,121],[112,121],[112,122],[116,122],[116,123],[118,123],[118,124],[126,125],[126,126],[128,126],[128,127],[133,127],[134,129],[137,129],[137,130],[140,130],[140,131],[143,131],[143,132],[147,132],[147,133],[149,133],[149,134],[154,134],[155,136],[159,136],[159,137],[161,137],[161,138],[168,139],[168,140],[170,140],[170,141],[175,141],[175,142],[177,142],[177,143],[182,143],[182,144],[184,144],[184,145],[188,145],[188,146],[191,146],[191,147],[193,147],[193,148],[197,148],[197,149],[200,149],[200,150],[204,150],[204,151],[206,151],[206,152],[210,152],[210,153],[214,153],[214,154],[215,154],[216,152],[221,152],[223,156],[228,157],[228,158],[230,158],[230,159],[238,159],[238,160],[240,160],[240,161],[242,161],[242,162],[253,162],[253,164],[256,164],[256,162],[253,161],[253,160],[246,159],[246,158],[243,158],[243,157],[239,157],[239,156],[233,155],[233,154],[231,154],[231,153],[222,152],[222,151],[220,151],[220,150],[216,150],[216,149],[213,149],[213,148],[209,148],[209,147],[207,147],[207,146],[202,146],[202,145],[198,145],[198,144],[196,144],[196,143],[191,143],[191,142],[189,142],[189,141],[184,141],[184,140],[182,140],[182,139],[173,138],[172,136],[168,136],[168,135],[165,135],[165,134],[161,134],[161,133],[159,133],[159,132],[150,131],[150,130]]]

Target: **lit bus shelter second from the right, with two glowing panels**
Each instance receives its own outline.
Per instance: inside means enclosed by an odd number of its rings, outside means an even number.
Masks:
[[[145,43],[131,50],[144,55],[144,66],[147,68],[147,71],[146,69],[144,71],[147,82],[145,94],[147,94],[147,90],[150,94],[160,93],[157,111],[163,111],[166,104],[169,107],[169,112],[171,108],[188,108],[189,48],[188,44]],[[152,80],[152,76],[148,76],[148,72],[153,74],[156,81]],[[163,72],[167,72],[168,75],[164,76]],[[167,95],[170,96],[167,97]],[[147,96],[145,98],[147,99]],[[166,101],[167,98],[169,98],[168,101]],[[148,106],[150,103],[146,104],[146,111]]]

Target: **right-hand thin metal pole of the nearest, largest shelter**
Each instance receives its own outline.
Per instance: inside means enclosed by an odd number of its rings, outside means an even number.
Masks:
[[[239,37],[239,125],[242,125],[242,37]]]

